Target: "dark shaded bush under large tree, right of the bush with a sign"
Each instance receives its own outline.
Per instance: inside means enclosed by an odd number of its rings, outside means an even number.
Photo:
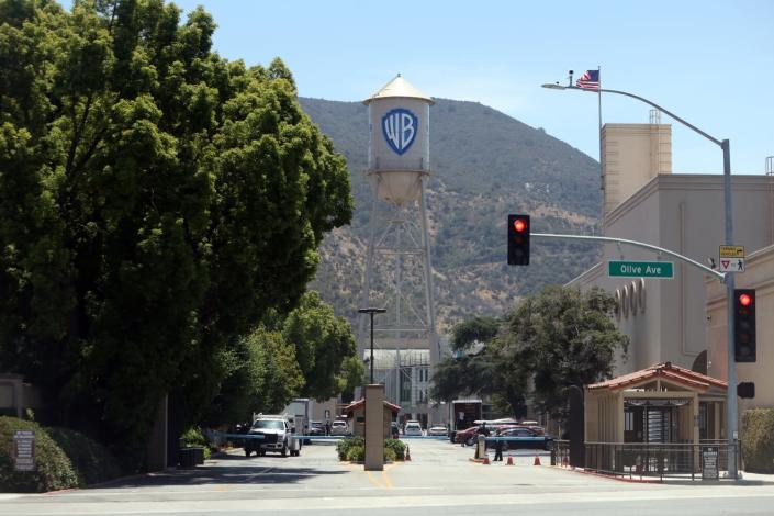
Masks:
[[[119,460],[99,442],[69,428],[46,428],[48,436],[70,459],[79,485],[96,484],[120,476]]]

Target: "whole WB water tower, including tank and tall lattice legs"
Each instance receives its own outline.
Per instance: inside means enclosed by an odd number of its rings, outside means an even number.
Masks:
[[[427,423],[439,356],[426,198],[433,99],[397,75],[363,103],[373,199],[361,305],[388,310],[374,319],[374,378],[403,413]],[[369,322],[363,315],[358,327],[366,360]]]

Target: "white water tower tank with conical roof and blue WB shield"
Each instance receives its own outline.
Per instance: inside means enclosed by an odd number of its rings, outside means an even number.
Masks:
[[[368,176],[379,199],[405,204],[419,199],[430,171],[433,99],[399,74],[368,105]]]

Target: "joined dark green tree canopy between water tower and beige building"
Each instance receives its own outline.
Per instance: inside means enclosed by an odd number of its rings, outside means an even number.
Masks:
[[[614,306],[601,289],[548,287],[521,300],[503,322],[460,323],[452,348],[475,340],[483,346],[439,364],[434,397],[490,395],[500,411],[516,417],[531,399],[538,412],[563,419],[568,388],[609,378],[616,352],[626,354],[628,338],[609,317]]]

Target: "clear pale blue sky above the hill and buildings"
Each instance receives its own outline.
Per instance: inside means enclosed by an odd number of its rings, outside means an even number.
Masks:
[[[282,58],[302,97],[362,100],[401,72],[433,97],[490,105],[596,159],[596,96],[540,85],[601,66],[603,88],[729,138],[734,173],[762,173],[774,155],[770,0],[176,3],[213,14],[224,57]],[[649,120],[636,100],[603,96],[602,108],[604,122]],[[675,172],[722,171],[719,147],[672,124]]]

